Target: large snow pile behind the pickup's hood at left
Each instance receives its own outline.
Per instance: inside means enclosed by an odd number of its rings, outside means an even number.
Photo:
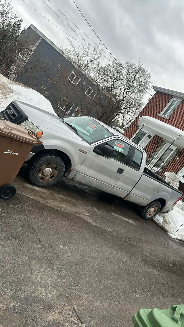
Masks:
[[[14,100],[26,102],[57,116],[50,101],[45,96],[24,84],[14,82],[0,74],[0,112]]]

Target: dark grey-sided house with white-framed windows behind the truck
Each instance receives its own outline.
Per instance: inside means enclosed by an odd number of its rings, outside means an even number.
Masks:
[[[21,35],[27,55],[12,66],[12,79],[44,95],[59,115],[96,116],[100,106],[111,106],[108,94],[35,26]],[[17,68],[18,66],[18,68]]]

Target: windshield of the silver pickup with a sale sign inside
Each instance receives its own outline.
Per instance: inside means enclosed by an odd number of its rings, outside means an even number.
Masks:
[[[113,134],[96,120],[86,116],[63,117],[64,122],[73,126],[87,143],[94,143]]]

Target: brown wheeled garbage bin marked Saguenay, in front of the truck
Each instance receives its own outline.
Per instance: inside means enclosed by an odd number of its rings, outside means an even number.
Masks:
[[[11,184],[32,147],[42,141],[31,130],[0,119],[0,198],[16,194]]]

